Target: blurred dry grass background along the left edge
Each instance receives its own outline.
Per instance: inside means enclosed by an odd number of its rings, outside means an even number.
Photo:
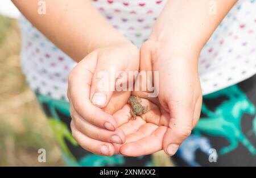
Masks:
[[[61,152],[20,69],[18,10],[0,1],[0,166],[64,165]],[[38,162],[38,149],[47,162]]]

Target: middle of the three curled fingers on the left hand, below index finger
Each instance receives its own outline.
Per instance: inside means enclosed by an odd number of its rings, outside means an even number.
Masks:
[[[123,133],[121,129],[116,129],[115,131],[101,129],[100,127],[86,122],[79,114],[76,113],[75,110],[72,110],[71,113],[74,125],[82,134],[102,142],[117,144],[122,144],[125,142],[125,133]]]

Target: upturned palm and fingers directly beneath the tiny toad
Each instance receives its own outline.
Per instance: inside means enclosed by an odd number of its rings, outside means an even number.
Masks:
[[[122,155],[148,155],[163,149],[162,140],[168,126],[168,113],[145,98],[142,98],[141,104],[146,106],[148,111],[135,119],[130,114],[130,104],[114,113],[118,128],[126,135],[124,144],[115,144]]]

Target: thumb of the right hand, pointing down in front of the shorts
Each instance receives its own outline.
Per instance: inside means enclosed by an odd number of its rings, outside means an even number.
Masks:
[[[168,155],[174,155],[180,144],[191,134],[193,110],[189,102],[171,101],[170,122],[163,139],[163,148]],[[195,108],[195,107],[192,107]]]

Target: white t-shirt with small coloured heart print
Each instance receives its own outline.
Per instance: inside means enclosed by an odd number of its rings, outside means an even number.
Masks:
[[[113,27],[140,47],[167,0],[92,0]],[[20,18],[21,65],[31,88],[67,100],[68,73],[76,65],[53,43]],[[200,35],[200,34],[198,34]],[[256,73],[256,1],[240,0],[203,48],[199,74],[203,94],[236,84]]]

